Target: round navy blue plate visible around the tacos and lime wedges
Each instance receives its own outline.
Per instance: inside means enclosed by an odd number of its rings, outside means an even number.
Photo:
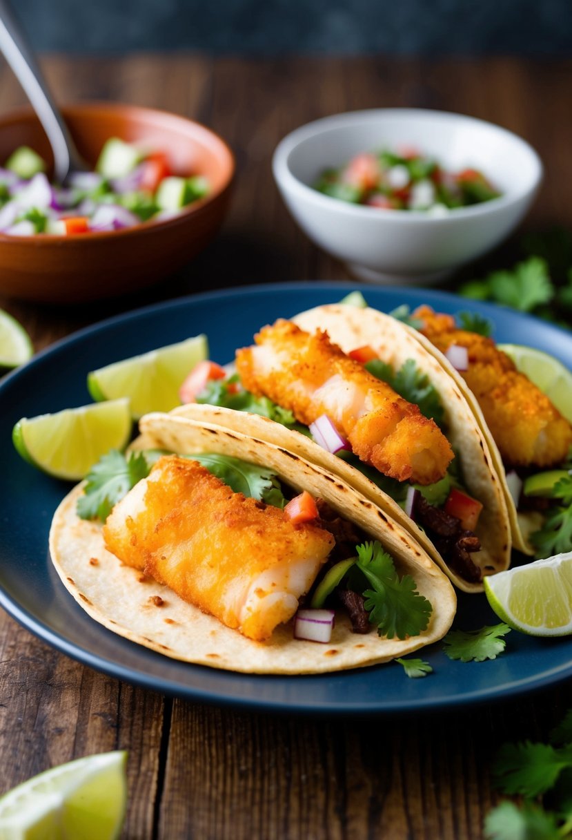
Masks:
[[[112,318],[39,354],[0,385],[0,604],[45,642],[120,680],[190,700],[261,711],[380,713],[422,711],[514,696],[572,675],[572,638],[536,639],[509,633],[493,661],[447,659],[440,643],[421,655],[434,668],[410,680],[398,664],[331,675],[283,677],[231,674],[176,662],[127,641],[94,622],[60,584],[48,557],[49,524],[69,486],[23,463],[10,436],[20,417],[90,402],[89,370],[205,332],[211,358],[224,362],[250,344],[274,318],[340,300],[356,286],[298,282],[219,291]],[[361,287],[372,306],[427,302],[442,312],[471,308],[495,323],[495,338],[530,344],[572,367],[572,338],[546,323],[443,292]],[[485,596],[461,596],[455,627],[496,624]]]

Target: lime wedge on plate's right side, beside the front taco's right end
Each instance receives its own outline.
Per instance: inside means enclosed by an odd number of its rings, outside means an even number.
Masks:
[[[488,575],[484,584],[492,609],[514,630],[531,636],[572,633],[572,552]]]

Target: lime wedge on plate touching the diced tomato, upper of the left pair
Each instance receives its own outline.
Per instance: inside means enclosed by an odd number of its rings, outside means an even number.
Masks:
[[[197,335],[93,370],[87,387],[98,401],[128,396],[135,420],[148,412],[170,412],[180,405],[179,387],[185,377],[208,352],[206,336]]]

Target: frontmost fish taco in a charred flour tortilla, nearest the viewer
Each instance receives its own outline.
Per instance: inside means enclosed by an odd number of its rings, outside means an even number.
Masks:
[[[214,423],[154,413],[140,432],[133,486],[105,522],[95,470],[49,535],[60,579],[113,632],[195,664],[306,674],[386,662],[449,629],[450,580],[337,475]]]

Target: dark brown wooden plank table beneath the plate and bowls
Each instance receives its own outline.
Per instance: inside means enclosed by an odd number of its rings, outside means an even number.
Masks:
[[[572,229],[570,61],[138,55],[50,56],[43,66],[60,102],[133,102],[207,123],[236,152],[237,186],[221,234],[167,285],[70,309],[0,297],[36,350],[87,323],[194,291],[349,279],[295,227],[270,172],[278,139],[329,113],[427,107],[501,123],[528,139],[547,165],[524,227]],[[23,102],[10,72],[0,68],[0,113]],[[397,718],[231,711],[101,675],[6,614],[0,661],[0,792],[51,765],[125,748],[129,807],[122,837],[131,840],[477,840],[498,801],[489,769],[499,743],[543,738],[572,706],[572,686],[559,685],[516,700]]]

